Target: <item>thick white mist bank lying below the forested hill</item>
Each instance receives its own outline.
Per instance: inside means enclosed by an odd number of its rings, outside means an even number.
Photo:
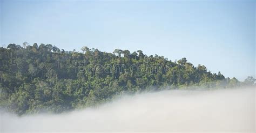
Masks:
[[[98,108],[18,117],[1,132],[254,132],[255,88],[126,95]]]

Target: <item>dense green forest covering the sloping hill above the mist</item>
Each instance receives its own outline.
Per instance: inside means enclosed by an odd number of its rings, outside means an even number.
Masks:
[[[226,88],[255,81],[248,77],[239,82],[204,65],[195,67],[186,58],[171,61],[142,50],[81,50],[37,43],[0,48],[0,107],[18,115],[60,113],[97,106],[121,94],[187,86]]]

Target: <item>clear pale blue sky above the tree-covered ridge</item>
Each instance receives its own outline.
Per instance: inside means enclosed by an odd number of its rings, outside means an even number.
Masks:
[[[255,77],[255,1],[0,1],[5,47],[140,49],[225,77]]]

